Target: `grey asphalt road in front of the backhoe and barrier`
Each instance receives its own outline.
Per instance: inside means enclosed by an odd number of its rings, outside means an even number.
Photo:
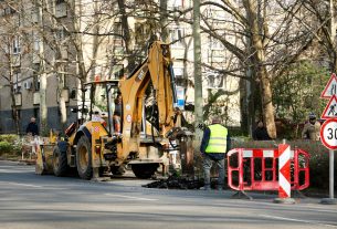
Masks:
[[[337,228],[337,206],[319,199],[273,204],[273,196],[143,188],[136,178],[86,181],[38,176],[0,160],[0,229]]]

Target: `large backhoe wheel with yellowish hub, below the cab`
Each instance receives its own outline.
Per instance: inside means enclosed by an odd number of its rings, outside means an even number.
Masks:
[[[76,167],[82,179],[93,177],[92,145],[86,136],[82,136],[76,147]]]

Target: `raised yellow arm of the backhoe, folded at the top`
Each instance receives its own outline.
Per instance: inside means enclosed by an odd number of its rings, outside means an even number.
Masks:
[[[169,45],[160,41],[151,43],[143,64],[119,83],[123,97],[123,155],[137,152],[144,118],[145,94],[150,82],[158,106],[158,131],[164,137],[173,127],[176,91]]]

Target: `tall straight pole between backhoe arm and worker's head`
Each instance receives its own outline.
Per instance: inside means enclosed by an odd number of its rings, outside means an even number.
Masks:
[[[203,123],[202,77],[201,77],[201,38],[200,38],[200,0],[193,1],[193,49],[194,49],[194,146],[201,142],[202,132],[198,128]],[[198,145],[197,145],[198,144]]]

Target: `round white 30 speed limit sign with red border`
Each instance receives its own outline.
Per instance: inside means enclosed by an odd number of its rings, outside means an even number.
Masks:
[[[324,122],[319,135],[325,147],[337,149],[337,118],[329,118]]]

